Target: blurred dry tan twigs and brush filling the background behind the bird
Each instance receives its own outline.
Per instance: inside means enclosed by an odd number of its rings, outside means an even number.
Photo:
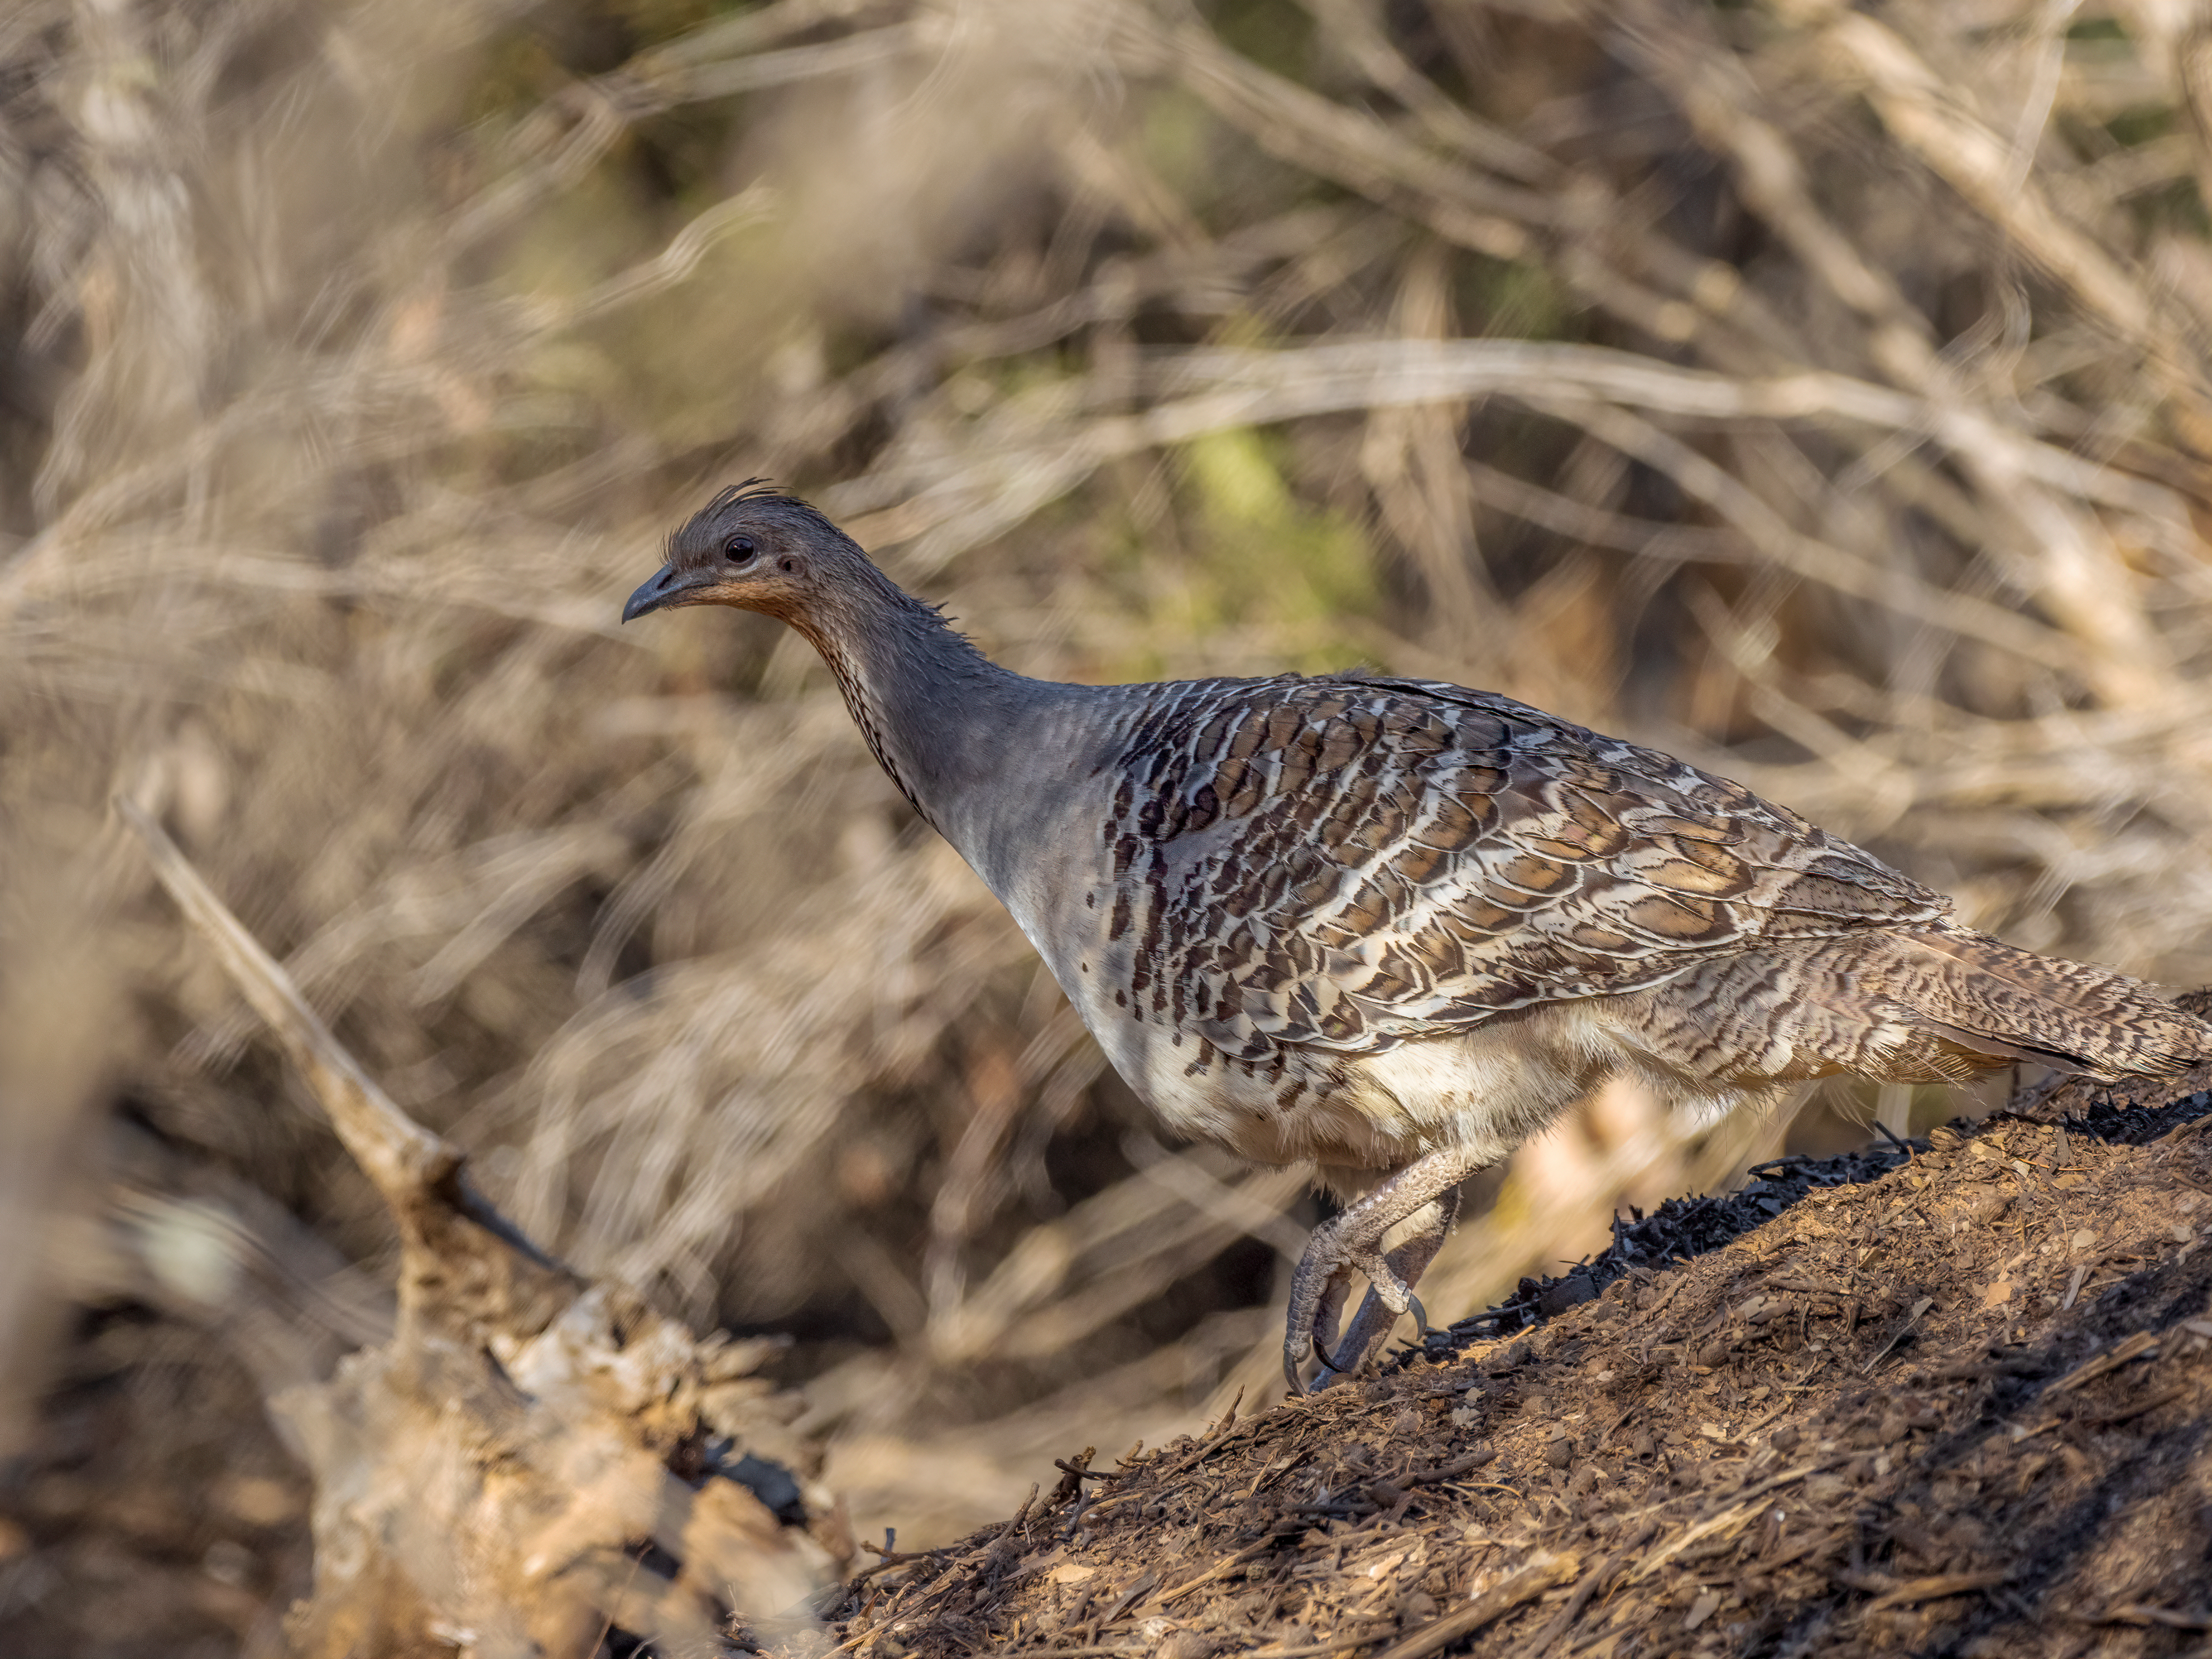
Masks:
[[[272,1650],[237,1285],[396,1256],[115,794],[538,1241],[799,1338],[860,1528],[1270,1387],[1298,1175],[801,641],[617,633],[734,478],[1026,672],[1498,688],[2212,980],[2208,124],[2192,0],[11,0],[0,1628]],[[1431,1312],[1783,1128],[1593,1104]]]

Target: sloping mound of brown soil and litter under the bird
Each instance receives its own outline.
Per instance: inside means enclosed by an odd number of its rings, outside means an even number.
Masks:
[[[2208,1652],[2208,1084],[2066,1086],[1670,1203],[1363,1387],[1066,1460],[1004,1526],[856,1579],[843,1639]]]

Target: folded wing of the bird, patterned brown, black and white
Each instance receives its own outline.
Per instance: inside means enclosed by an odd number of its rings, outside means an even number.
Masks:
[[[1506,697],[1206,681],[1144,719],[1108,827],[1137,1018],[1232,1055],[1383,1048],[1951,900],[1785,807]]]

